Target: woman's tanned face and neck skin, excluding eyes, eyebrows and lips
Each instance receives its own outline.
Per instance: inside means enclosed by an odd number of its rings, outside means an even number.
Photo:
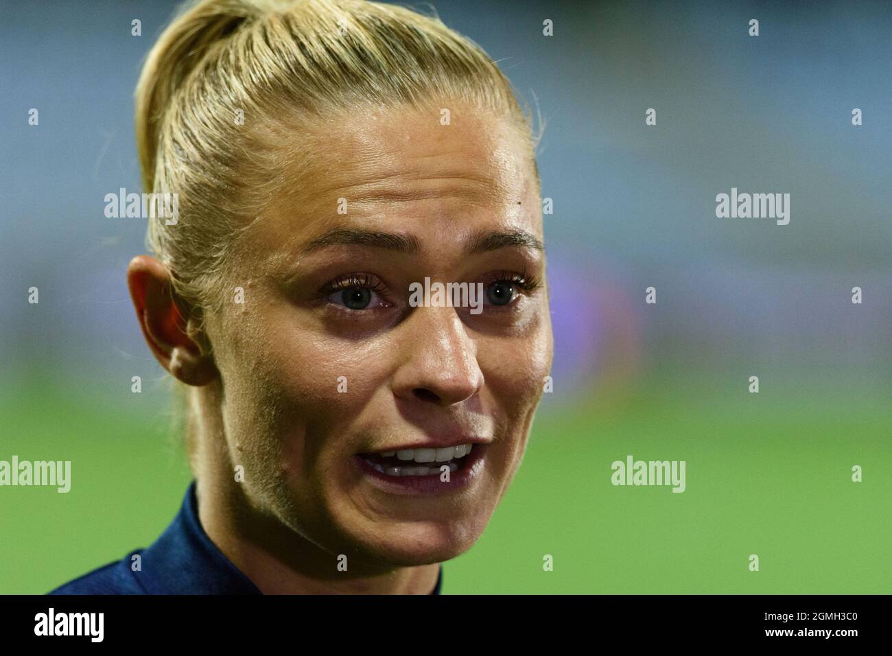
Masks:
[[[352,585],[342,590],[429,591],[435,563],[481,536],[523,458],[551,365],[544,255],[468,254],[465,240],[519,228],[541,241],[540,192],[524,143],[501,120],[460,106],[450,126],[439,117],[390,109],[319,129],[324,147],[306,184],[285,189],[236,248],[243,273],[227,283],[244,287],[244,305],[221,303],[208,317],[219,380],[195,388],[202,523],[265,591],[315,591],[318,579],[331,589],[348,578],[338,554]],[[335,225],[413,236],[420,250],[300,254]],[[389,307],[319,300],[330,279],[359,271],[383,282]],[[523,271],[541,286],[479,317],[407,306],[412,282],[492,271]],[[492,440],[482,475],[454,493],[385,493],[352,461],[444,432]]]

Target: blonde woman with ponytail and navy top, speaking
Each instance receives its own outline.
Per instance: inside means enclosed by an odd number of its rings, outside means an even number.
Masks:
[[[136,87],[145,190],[178,215],[127,278],[194,482],[154,544],[54,593],[438,594],[551,364],[531,122],[400,6],[180,12]]]

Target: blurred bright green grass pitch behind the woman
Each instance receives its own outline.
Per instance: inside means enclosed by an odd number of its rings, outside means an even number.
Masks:
[[[892,591],[890,394],[684,385],[540,411],[490,526],[445,565],[444,594]],[[30,387],[0,418],[0,459],[70,460],[73,478],[69,494],[0,488],[0,593],[43,594],[120,559],[178,511],[190,475],[167,419]],[[687,490],[612,486],[629,453],[686,461]]]

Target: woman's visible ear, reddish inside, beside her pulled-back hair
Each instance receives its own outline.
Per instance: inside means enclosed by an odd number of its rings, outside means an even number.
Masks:
[[[161,366],[187,385],[203,386],[219,376],[202,349],[192,320],[180,312],[169,269],[148,255],[136,255],[127,268],[130,298],[145,341]]]

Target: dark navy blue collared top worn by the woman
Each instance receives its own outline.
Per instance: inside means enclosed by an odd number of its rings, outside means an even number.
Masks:
[[[131,569],[133,556],[142,562]],[[431,594],[440,594],[442,565]],[[198,519],[195,481],[170,526],[148,549],[129,552],[120,561],[78,577],[50,594],[262,594],[250,578],[227,559]]]

